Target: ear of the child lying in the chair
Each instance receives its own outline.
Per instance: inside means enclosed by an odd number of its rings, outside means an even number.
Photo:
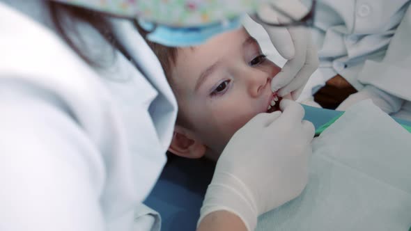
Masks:
[[[206,145],[199,142],[188,129],[178,125],[174,127],[169,152],[180,157],[196,159],[203,157],[206,154],[206,150]]]

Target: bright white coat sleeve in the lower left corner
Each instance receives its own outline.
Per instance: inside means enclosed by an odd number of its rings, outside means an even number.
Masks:
[[[0,92],[0,230],[104,230],[104,168],[68,111]]]

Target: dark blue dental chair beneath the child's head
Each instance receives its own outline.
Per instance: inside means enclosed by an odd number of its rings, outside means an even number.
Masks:
[[[316,129],[341,114],[340,111],[311,106],[304,106],[304,109],[306,111],[304,119],[313,122]],[[410,121],[394,119],[403,125],[411,126]],[[145,202],[146,205],[160,212],[162,230],[196,229],[203,196],[214,168],[215,163],[207,159],[180,157],[169,159]]]

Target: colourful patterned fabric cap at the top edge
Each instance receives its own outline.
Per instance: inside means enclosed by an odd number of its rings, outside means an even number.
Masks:
[[[253,12],[267,0],[55,0],[166,26],[199,26]]]

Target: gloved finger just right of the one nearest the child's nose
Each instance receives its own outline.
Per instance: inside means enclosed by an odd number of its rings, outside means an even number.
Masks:
[[[313,72],[317,70],[320,63],[320,61],[318,60],[317,49],[310,39],[308,40],[308,43],[309,44],[307,45],[307,54],[304,65],[297,73],[295,78],[290,83],[288,83],[287,86],[284,86],[284,88],[281,88],[279,90],[278,94],[280,96],[291,93],[293,95],[293,99],[297,99],[301,95],[304,86],[309,81],[311,74],[313,74]]]

